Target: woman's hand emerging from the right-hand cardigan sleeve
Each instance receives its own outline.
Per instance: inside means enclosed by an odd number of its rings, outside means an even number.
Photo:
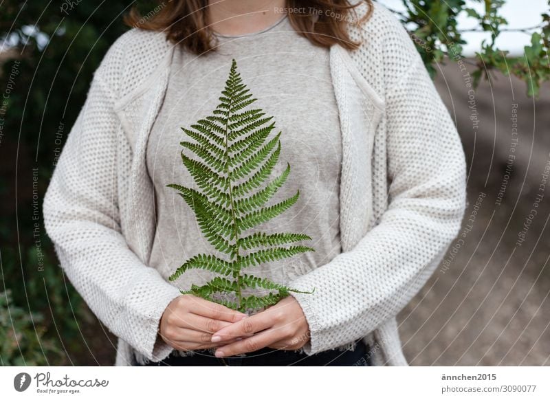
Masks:
[[[225,344],[236,337],[245,338]],[[264,347],[297,350],[309,342],[309,325],[298,301],[287,296],[274,306],[215,332],[212,342],[221,346],[216,357],[252,353]]]

